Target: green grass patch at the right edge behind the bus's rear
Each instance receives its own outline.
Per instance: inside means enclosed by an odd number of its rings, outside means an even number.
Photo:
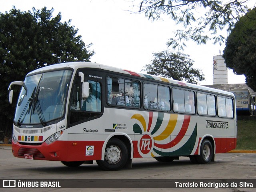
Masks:
[[[256,120],[237,121],[235,150],[256,150]]]

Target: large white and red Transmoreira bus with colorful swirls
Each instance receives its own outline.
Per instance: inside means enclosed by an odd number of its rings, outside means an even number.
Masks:
[[[131,168],[133,158],[208,164],[236,148],[231,92],[91,62],[53,64],[20,85],[15,157]]]

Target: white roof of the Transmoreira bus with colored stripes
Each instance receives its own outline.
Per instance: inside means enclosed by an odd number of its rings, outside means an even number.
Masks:
[[[125,70],[125,69],[121,69],[121,68],[116,68],[116,67],[107,66],[107,65],[98,64],[98,63],[92,63],[92,62],[67,62],[67,63],[60,63],[60,64],[52,64],[49,66],[45,66],[45,67],[36,69],[32,72],[29,72],[27,74],[27,76],[30,76],[30,75],[32,75],[34,73],[38,73],[38,72],[54,70],[57,68],[73,68],[74,70],[77,70],[79,68],[98,68],[98,69],[102,69],[102,70],[107,70],[107,71],[118,72],[118,73],[122,73],[122,74],[128,74],[128,75],[132,75],[132,76],[147,78],[147,79],[151,79],[151,80],[158,80],[158,81],[176,84],[176,85],[180,85],[180,86],[184,86],[184,87],[188,87],[188,88],[189,87],[196,88],[199,90],[204,90],[204,91],[209,91],[209,92],[217,92],[217,93],[221,93],[221,94],[227,94],[230,96],[234,96],[234,94],[232,92],[227,92],[227,91],[209,88],[209,87],[205,87],[205,86],[200,86],[200,85],[196,85],[196,84],[191,84],[191,83],[187,83],[187,82],[181,82],[181,81],[173,80],[170,78],[163,78],[163,77],[159,77],[159,76],[155,76],[155,75],[143,74],[140,72],[134,72],[134,71],[130,71],[130,70]]]

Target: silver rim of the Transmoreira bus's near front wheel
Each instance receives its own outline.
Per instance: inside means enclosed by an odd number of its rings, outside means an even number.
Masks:
[[[105,150],[105,160],[109,164],[116,164],[121,159],[121,150],[118,146],[109,146]]]

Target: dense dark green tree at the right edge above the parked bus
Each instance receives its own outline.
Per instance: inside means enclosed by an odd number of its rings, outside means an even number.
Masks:
[[[234,26],[223,51],[226,66],[235,74],[244,74],[246,84],[256,90],[256,8]]]

